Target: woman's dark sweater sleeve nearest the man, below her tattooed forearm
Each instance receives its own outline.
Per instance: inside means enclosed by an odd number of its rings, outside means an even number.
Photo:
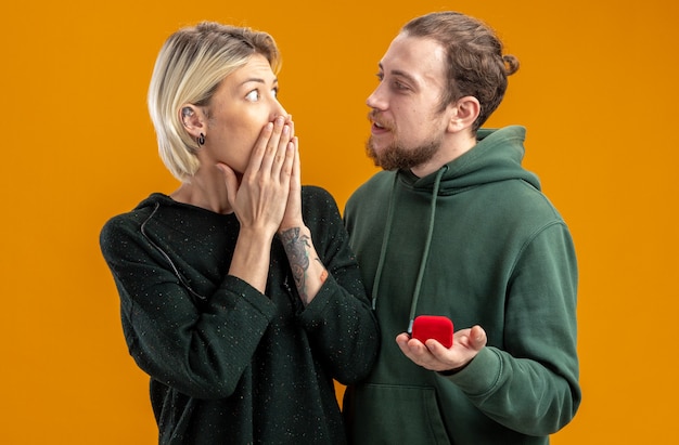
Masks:
[[[315,354],[330,366],[334,378],[355,383],[376,359],[377,322],[334,199],[318,187],[305,187],[303,197],[305,222],[329,278],[299,318]]]

